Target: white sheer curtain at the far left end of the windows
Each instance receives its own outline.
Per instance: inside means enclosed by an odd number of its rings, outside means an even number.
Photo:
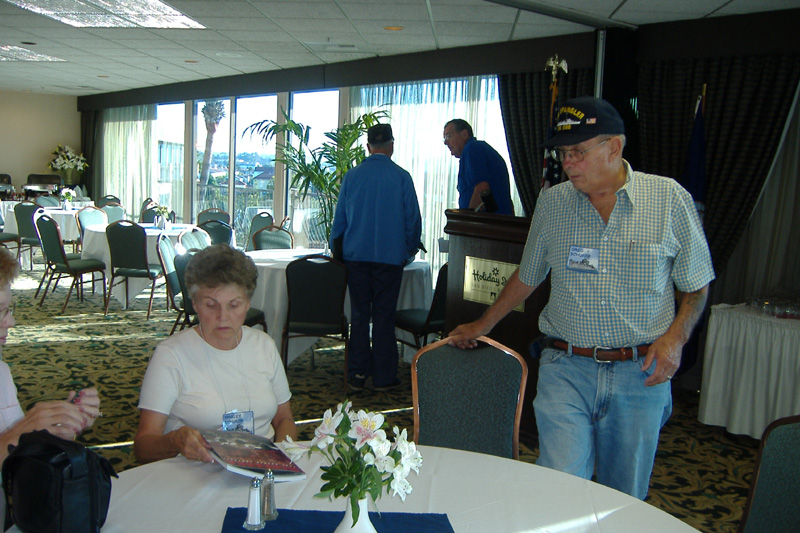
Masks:
[[[103,194],[117,196],[129,219],[138,220],[159,176],[156,105],[106,109],[100,117]]]

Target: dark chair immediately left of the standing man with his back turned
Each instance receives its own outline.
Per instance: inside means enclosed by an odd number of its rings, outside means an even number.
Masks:
[[[288,306],[281,334],[281,359],[289,365],[289,339],[322,337],[344,342],[344,390],[347,392],[347,357],[350,345],[344,301],[347,268],[327,255],[307,255],[286,266]],[[314,368],[314,348],[311,348]]]

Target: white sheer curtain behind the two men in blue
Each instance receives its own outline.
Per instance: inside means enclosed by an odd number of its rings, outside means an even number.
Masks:
[[[517,214],[522,203],[516,193],[508,157],[503,118],[495,76],[429,80],[403,84],[370,85],[350,90],[350,119],[385,109],[394,133],[395,163],[414,178],[422,211],[422,242],[434,273],[447,262],[438,240],[446,237],[445,209],[458,207],[458,160],[442,142],[444,124],[463,118],[475,137],[488,142],[506,160],[512,200]],[[435,274],[434,274],[435,282]]]

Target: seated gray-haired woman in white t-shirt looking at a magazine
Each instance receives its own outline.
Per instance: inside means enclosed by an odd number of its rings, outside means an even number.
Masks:
[[[280,354],[266,333],[244,326],[258,271],[226,244],[186,267],[199,324],[156,347],[139,396],[133,449],[140,463],[174,457],[211,462],[199,430],[297,438]]]

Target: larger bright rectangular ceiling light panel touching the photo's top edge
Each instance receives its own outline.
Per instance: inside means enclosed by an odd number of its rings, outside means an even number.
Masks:
[[[7,0],[76,28],[195,28],[199,22],[159,0]]]

